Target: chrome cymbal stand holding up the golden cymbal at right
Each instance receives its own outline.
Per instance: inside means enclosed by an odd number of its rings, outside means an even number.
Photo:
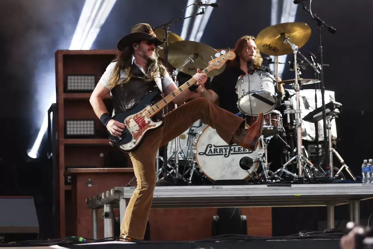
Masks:
[[[298,66],[297,66],[297,63],[298,63],[297,54],[299,54],[304,58],[305,61],[307,61],[311,65],[311,67],[314,68],[315,71],[319,72],[319,70],[313,64],[311,64],[311,62],[308,61],[308,59],[305,58],[305,56],[302,55],[301,52],[298,51],[298,46],[289,41],[290,37],[285,36],[285,34],[281,34],[281,36],[284,39],[284,43],[288,43],[291,46],[291,49],[293,50],[294,68],[298,68]],[[289,163],[291,163],[294,159],[297,159],[298,176],[299,177],[304,176],[304,173],[303,173],[303,170],[304,170],[304,172],[308,176],[308,178],[313,178],[312,174],[310,172],[310,169],[307,168],[307,165],[310,166],[311,168],[313,167],[313,165],[310,162],[310,160],[308,160],[307,157],[305,157],[303,155],[303,150],[302,150],[302,127],[301,127],[302,119],[301,119],[301,110],[300,110],[300,93],[299,93],[300,85],[298,83],[298,70],[295,70],[294,90],[295,90],[295,95],[296,95],[297,107],[296,107],[295,110],[284,110],[284,114],[288,114],[288,113],[295,114],[294,122],[295,122],[295,129],[297,130],[297,133],[296,133],[296,135],[297,135],[297,151],[296,151],[296,155],[294,157],[292,157],[291,159],[289,159],[288,162],[286,162],[283,166],[286,166]],[[303,168],[303,164],[305,166],[304,168]]]

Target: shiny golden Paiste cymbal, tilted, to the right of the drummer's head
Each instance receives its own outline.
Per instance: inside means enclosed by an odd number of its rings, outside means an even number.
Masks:
[[[304,22],[286,22],[269,26],[260,31],[256,37],[256,44],[260,52],[266,55],[287,55],[293,53],[290,44],[283,43],[284,37],[301,48],[311,36],[311,28]]]

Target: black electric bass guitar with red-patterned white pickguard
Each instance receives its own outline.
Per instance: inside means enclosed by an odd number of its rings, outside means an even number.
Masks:
[[[236,55],[232,51],[225,53],[209,61],[209,66],[206,67],[203,72],[209,73],[211,70],[219,69],[223,67],[226,61],[233,60],[235,57]],[[154,122],[151,118],[159,111],[162,111],[163,107],[173,101],[173,99],[179,96],[183,91],[188,90],[189,86],[196,83],[197,81],[193,78],[188,80],[182,86],[153,105],[152,100],[159,93],[155,91],[149,92],[141,99],[135,108],[113,116],[112,118],[114,120],[126,124],[126,127],[119,136],[113,136],[108,131],[110,142],[124,152],[130,152],[137,148],[148,130],[156,129],[163,124],[163,120]]]

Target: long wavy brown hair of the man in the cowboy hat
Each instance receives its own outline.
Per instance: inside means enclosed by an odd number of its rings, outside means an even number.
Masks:
[[[109,78],[109,87],[115,87],[118,84],[125,84],[131,79],[132,72],[131,72],[131,58],[134,54],[134,48],[132,46],[127,47],[123,52],[119,52],[114,62],[116,62],[115,67],[113,69],[112,75]],[[155,77],[161,76],[164,77],[166,75],[167,69],[164,67],[162,62],[158,59],[158,55],[154,54],[156,59],[154,61],[151,61],[148,64],[149,70],[148,70],[148,76],[144,77],[145,81],[151,82],[154,80]],[[123,70],[125,72],[125,79],[122,82],[119,82],[120,79],[120,70]]]

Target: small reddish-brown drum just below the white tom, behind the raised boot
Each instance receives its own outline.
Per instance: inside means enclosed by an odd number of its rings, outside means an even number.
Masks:
[[[279,134],[282,131],[282,115],[279,111],[273,110],[271,113],[263,115],[263,136],[269,137]],[[258,119],[256,116],[246,116],[245,120],[248,125],[253,125]]]

